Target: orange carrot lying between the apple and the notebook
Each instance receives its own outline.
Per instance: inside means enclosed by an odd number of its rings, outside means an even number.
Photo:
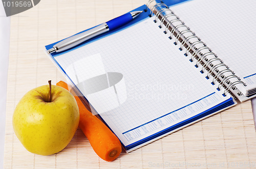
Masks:
[[[64,81],[59,81],[56,85],[67,90],[70,89]],[[79,127],[82,132],[86,135],[93,150],[100,158],[105,161],[113,161],[122,151],[119,139],[103,122],[92,115],[78,96],[74,97],[79,107]]]

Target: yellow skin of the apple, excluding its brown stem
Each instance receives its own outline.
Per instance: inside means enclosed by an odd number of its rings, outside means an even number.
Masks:
[[[13,129],[31,153],[50,155],[64,149],[79,123],[79,109],[74,96],[64,88],[40,86],[26,93],[13,114]]]

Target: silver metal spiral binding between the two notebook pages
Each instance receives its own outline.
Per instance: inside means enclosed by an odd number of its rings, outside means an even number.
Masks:
[[[144,11],[150,9],[153,2],[155,2],[155,0],[148,1]],[[230,92],[230,89],[237,90],[235,85],[239,83],[246,86],[246,84],[233,71],[231,71],[229,67],[224,64],[223,61],[219,59],[218,56],[212,52],[211,49],[204,42],[202,42],[198,36],[196,36],[194,32],[190,30],[189,27],[187,27],[185,23],[168,8],[167,5],[165,5],[163,2],[156,3],[150,10],[151,12],[149,16],[151,17],[153,14],[156,15],[154,22],[159,20],[160,28],[165,22],[164,33],[167,34],[167,30],[170,32],[169,39],[175,37],[176,40],[174,44],[177,45],[178,42],[180,42],[179,49],[183,50],[184,47],[186,48],[184,55],[188,56],[189,53],[191,54],[189,61],[193,62],[196,60],[197,63],[195,66],[198,67],[199,64],[202,66],[202,70],[200,71],[201,73],[204,73],[205,70],[208,71],[206,78],[209,78],[210,76],[213,77],[211,82],[212,85],[215,85],[216,81],[219,82],[217,89],[220,90],[221,87],[223,87],[224,96],[227,94],[227,92]],[[169,19],[170,17],[172,17],[172,19]],[[176,22],[177,24],[175,25]],[[191,41],[193,39],[194,41]],[[214,64],[214,62],[219,63]],[[224,69],[220,69],[221,67]],[[231,79],[236,80],[231,81]],[[241,96],[241,92],[237,94]]]

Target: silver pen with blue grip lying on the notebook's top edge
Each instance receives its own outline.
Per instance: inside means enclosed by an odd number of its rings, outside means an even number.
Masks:
[[[108,22],[102,23],[86,32],[82,32],[80,34],[77,34],[77,35],[74,35],[67,39],[64,39],[64,40],[60,41],[59,43],[53,45],[53,48],[49,49],[48,53],[61,52],[61,51],[70,49],[70,48],[72,48],[84,41],[87,41],[95,36],[98,36],[100,34],[108,32],[108,31],[115,30],[118,27],[132,21],[141,12],[143,12],[143,11],[134,11],[134,12],[126,13],[126,14],[121,15],[117,18],[114,18]]]

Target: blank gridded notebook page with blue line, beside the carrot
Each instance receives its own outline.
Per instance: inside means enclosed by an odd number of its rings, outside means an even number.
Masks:
[[[230,98],[210,84],[153,20],[54,58],[125,146]],[[105,78],[109,81],[104,84]],[[175,114],[168,115],[168,123],[147,124],[170,112]],[[141,126],[147,131],[136,133]]]

